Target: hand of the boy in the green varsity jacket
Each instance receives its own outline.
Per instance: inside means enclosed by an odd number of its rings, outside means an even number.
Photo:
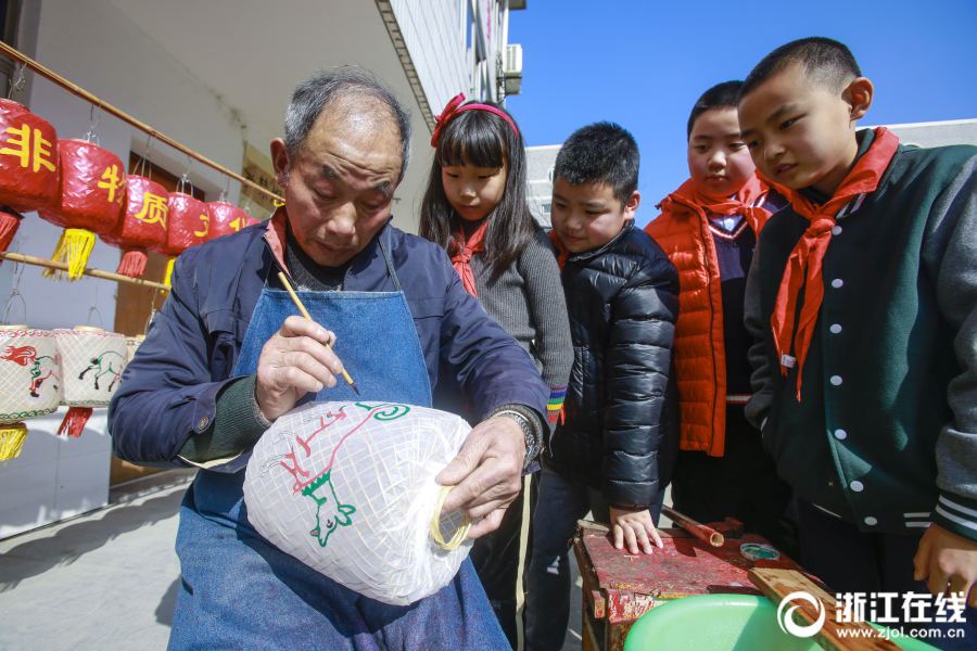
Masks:
[[[969,595],[967,605],[977,608],[977,541],[931,524],[919,540],[913,564],[913,578],[923,580],[928,576],[926,587],[930,592],[942,595],[950,584],[951,592]]]

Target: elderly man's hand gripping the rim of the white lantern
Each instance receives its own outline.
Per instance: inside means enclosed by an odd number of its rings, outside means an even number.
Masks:
[[[455,488],[444,500],[442,512],[462,509],[472,520],[470,539],[494,532],[506,509],[522,489],[525,435],[507,416],[488,419],[471,431],[461,451],[437,475],[437,481]]]

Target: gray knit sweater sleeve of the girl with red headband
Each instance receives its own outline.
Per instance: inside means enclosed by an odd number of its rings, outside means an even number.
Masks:
[[[573,342],[557,252],[549,235],[536,231],[519,256],[518,268],[525,279],[530,316],[536,327],[543,382],[550,388],[566,388],[573,366]]]

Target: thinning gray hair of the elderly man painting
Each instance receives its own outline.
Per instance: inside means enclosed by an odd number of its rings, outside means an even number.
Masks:
[[[413,136],[410,113],[404,108],[397,100],[397,95],[386,84],[364,68],[338,67],[320,73],[295,87],[289,107],[286,108],[284,141],[289,151],[289,159],[293,161],[295,154],[305,144],[308,132],[312,131],[322,108],[346,93],[363,93],[380,100],[386,104],[396,118],[397,128],[401,131],[401,176],[397,177],[397,183],[399,183],[407,173],[407,165],[410,164],[410,139]]]

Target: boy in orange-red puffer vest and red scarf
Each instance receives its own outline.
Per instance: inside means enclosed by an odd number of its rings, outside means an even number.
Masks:
[[[756,175],[739,137],[743,81],[713,86],[688,118],[688,174],[645,231],[678,269],[678,374],[682,442],[672,478],[675,509],[699,522],[735,518],[748,533],[797,553],[787,516],[790,486],[777,476],[760,433],[744,413],[750,399],[743,322],[757,235],[787,201]]]

